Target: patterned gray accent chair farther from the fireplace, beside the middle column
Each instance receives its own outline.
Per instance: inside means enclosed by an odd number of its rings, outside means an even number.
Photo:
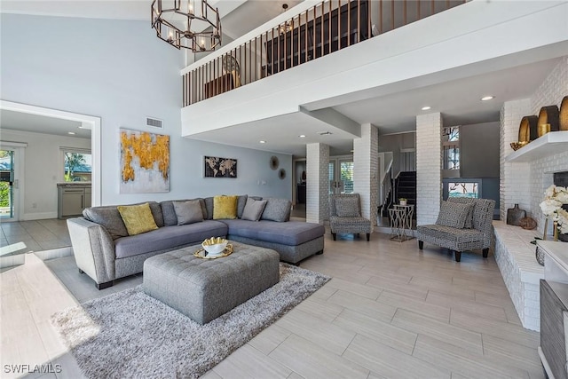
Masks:
[[[329,226],[334,241],[337,233],[367,233],[367,241],[370,240],[371,221],[361,216],[359,193],[329,195]]]

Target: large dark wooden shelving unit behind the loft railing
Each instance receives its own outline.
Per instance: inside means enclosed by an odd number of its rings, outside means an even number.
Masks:
[[[329,4],[329,3],[327,3]],[[309,15],[308,22],[288,25],[278,33],[268,34],[265,43],[267,65],[263,75],[272,75],[289,67],[338,51],[349,44],[369,38],[369,13],[367,0],[351,1],[341,8],[329,11],[323,6],[323,14]]]

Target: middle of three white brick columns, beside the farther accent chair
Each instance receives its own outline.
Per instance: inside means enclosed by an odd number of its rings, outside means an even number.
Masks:
[[[379,130],[370,123],[361,125],[361,138],[353,140],[353,191],[361,196],[363,217],[376,225],[379,172]]]

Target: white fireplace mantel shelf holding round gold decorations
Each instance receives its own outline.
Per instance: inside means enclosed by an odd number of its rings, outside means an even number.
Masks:
[[[509,154],[505,162],[531,162],[568,151],[568,130],[551,131]]]

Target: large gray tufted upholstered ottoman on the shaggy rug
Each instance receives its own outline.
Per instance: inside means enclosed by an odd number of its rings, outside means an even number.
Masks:
[[[201,245],[146,259],[143,288],[190,319],[206,324],[280,280],[280,255],[272,249],[233,243],[233,254],[193,257]]]

